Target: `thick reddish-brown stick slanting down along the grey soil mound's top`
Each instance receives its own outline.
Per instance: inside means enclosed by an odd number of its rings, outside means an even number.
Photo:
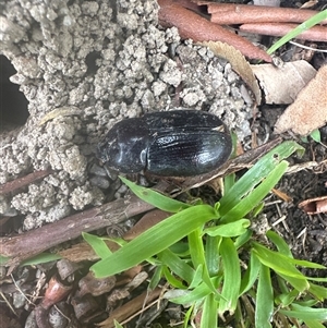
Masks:
[[[165,27],[175,26],[182,38],[191,38],[194,41],[227,42],[249,58],[271,62],[271,58],[266,51],[223,27],[208,22],[191,10],[171,0],[158,0],[158,3],[160,5],[158,13],[159,23]]]

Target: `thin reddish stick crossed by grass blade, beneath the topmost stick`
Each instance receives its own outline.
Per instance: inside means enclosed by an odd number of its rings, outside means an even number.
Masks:
[[[263,23],[263,24],[243,24],[240,26],[241,31],[272,35],[283,36],[290,31],[298,27],[296,24],[282,24],[282,23]],[[296,39],[311,40],[311,41],[327,41],[327,26],[313,26],[310,29],[301,33],[296,36]]]

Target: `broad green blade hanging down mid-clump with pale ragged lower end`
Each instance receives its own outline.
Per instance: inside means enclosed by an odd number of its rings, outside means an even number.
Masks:
[[[238,305],[241,286],[239,255],[234,243],[229,238],[222,239],[219,251],[223,265],[223,284],[218,312],[221,315],[226,311],[233,314]]]

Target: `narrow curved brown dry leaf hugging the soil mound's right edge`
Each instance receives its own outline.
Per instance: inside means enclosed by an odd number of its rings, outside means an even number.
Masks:
[[[232,69],[242,77],[246,85],[254,94],[257,105],[262,102],[262,93],[255,76],[253,75],[252,68],[246,61],[245,57],[234,47],[219,41],[201,42],[201,45],[208,47],[216,56],[222,57],[228,60]]]

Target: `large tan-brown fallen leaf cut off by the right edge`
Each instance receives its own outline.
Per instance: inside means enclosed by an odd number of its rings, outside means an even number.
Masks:
[[[300,92],[295,101],[280,116],[275,125],[275,133],[292,130],[300,135],[308,135],[326,122],[327,65],[324,65]]]

